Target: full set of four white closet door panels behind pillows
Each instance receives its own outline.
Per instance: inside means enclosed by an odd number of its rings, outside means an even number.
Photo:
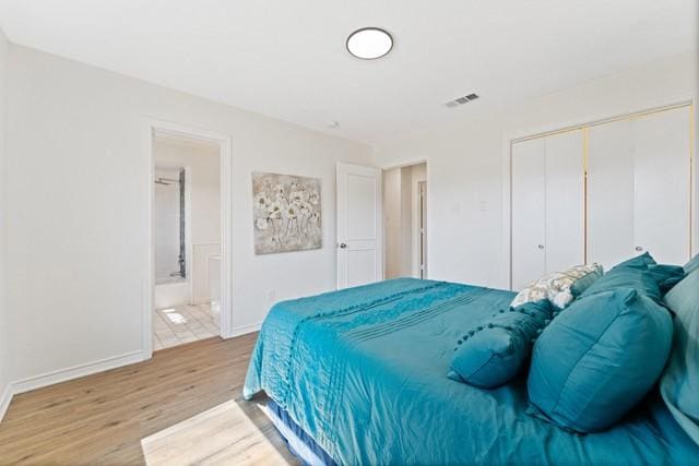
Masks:
[[[512,143],[511,279],[649,251],[691,255],[691,107],[612,119]]]

